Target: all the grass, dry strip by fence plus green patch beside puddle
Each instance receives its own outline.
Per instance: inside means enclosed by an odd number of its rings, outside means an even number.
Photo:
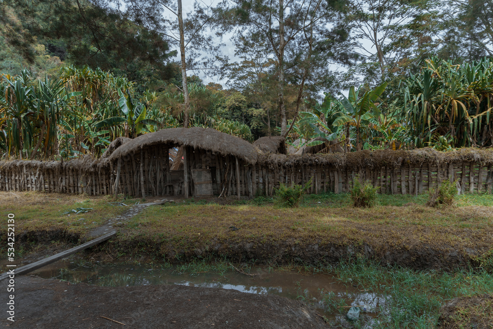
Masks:
[[[380,195],[378,205],[371,209],[353,208],[346,194],[310,195],[294,209],[278,207],[265,197],[232,199],[221,204],[217,199],[176,200],[150,206],[130,219],[113,246],[140,241],[142,253],[150,253],[152,247],[151,254],[160,256],[161,261],[167,248],[186,254],[183,251],[203,252],[224,244],[219,251],[227,254],[234,244],[265,244],[275,249],[286,241],[293,248],[313,244],[365,245],[379,255],[393,250],[407,257],[413,251],[435,249],[443,255],[463,256],[462,260],[465,256],[475,259],[475,268],[466,262],[451,271],[416,270],[368,261],[356,253],[351,259],[342,257],[339,263],[328,267],[312,267],[308,263],[304,268],[331,273],[348,285],[381,296],[383,308],[374,315],[380,324],[374,322],[372,327],[433,328],[439,322],[440,306],[447,300],[493,292],[493,196],[461,195],[454,207],[441,209],[426,207],[426,200],[427,195]],[[108,197],[2,192],[0,210],[3,218],[8,213],[15,214],[16,232],[64,229],[84,234],[128,209],[113,207],[108,204],[111,201]],[[75,216],[63,214],[77,207],[93,210]],[[128,248],[128,252],[136,250]],[[183,266],[188,266],[187,271],[200,270],[193,263]],[[342,306],[349,304],[330,293],[325,293],[324,301],[342,314],[347,311]],[[483,298],[482,303],[491,306],[491,299]],[[491,307],[485,311],[473,304],[458,304],[454,314],[458,325],[454,328],[469,328],[471,319],[488,319],[492,312]],[[364,324],[353,323],[356,328]]]

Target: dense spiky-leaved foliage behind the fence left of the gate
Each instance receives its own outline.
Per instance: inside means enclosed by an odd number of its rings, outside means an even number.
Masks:
[[[100,155],[159,125],[133,93],[126,78],[88,67],[65,66],[60,79],[0,75],[0,148],[22,158]]]

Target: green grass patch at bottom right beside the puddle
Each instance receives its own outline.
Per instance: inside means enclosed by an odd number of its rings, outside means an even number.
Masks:
[[[492,268],[492,263],[487,267]],[[363,317],[354,328],[491,328],[493,316],[491,299],[483,298],[482,307],[468,303],[484,293],[493,292],[493,274],[485,268],[442,272],[415,271],[354,259],[333,267],[332,274],[340,281],[374,294],[379,303],[371,318]],[[439,319],[440,308],[455,297],[462,297],[454,314],[444,322]],[[325,293],[327,307],[345,314],[348,305],[333,293]],[[341,302],[342,301],[342,302]],[[351,300],[350,300],[351,301]],[[486,304],[489,303],[489,307]],[[472,305],[471,305],[472,304]]]

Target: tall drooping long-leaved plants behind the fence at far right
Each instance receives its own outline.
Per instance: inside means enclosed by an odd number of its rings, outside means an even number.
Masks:
[[[402,89],[415,146],[492,146],[492,73],[491,59],[464,65],[426,60],[423,70],[411,75]]]

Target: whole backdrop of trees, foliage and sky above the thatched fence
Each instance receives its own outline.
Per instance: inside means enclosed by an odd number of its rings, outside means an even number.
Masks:
[[[321,152],[493,146],[491,0],[191,4],[2,1],[2,157],[178,126]]]

